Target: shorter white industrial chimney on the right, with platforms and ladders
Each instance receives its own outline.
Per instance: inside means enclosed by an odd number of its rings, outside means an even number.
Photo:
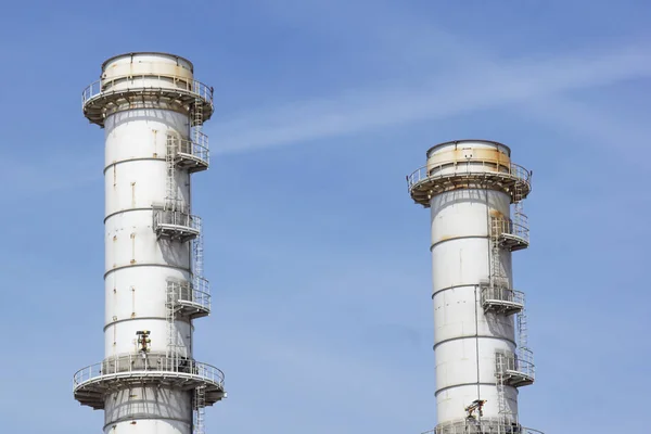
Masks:
[[[441,143],[408,177],[411,197],[432,213],[435,434],[539,433],[518,418],[534,363],[511,253],[528,246],[532,174],[510,156],[487,140]]]

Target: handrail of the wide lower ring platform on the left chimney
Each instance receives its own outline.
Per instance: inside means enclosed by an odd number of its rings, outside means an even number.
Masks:
[[[152,374],[154,372],[173,372],[183,375],[200,376],[208,382],[224,386],[224,372],[212,365],[193,359],[167,356],[146,356],[129,354],[128,356],[108,358],[99,363],[78,370],[73,378],[73,388],[77,390],[93,380],[104,376],[127,374]]]

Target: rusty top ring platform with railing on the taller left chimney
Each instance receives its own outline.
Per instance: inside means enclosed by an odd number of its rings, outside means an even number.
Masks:
[[[106,113],[161,106],[190,113],[197,103],[203,120],[208,120],[214,112],[213,89],[199,80],[170,75],[112,77],[92,82],[81,94],[84,115],[101,127]]]

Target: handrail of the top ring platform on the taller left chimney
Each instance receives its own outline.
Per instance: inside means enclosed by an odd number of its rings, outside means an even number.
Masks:
[[[169,79],[173,80],[174,86],[169,86]],[[138,81],[141,81],[140,85]],[[152,86],[152,81],[158,80],[166,86]],[[127,88],[125,89],[112,89],[114,86],[119,85],[124,81],[128,81]],[[95,98],[100,98],[103,93],[108,92],[124,92],[130,90],[141,89],[159,89],[159,90],[184,90],[189,93],[202,98],[213,104],[213,88],[207,85],[191,79],[188,77],[167,75],[167,74],[136,74],[136,75],[120,75],[111,77],[107,79],[99,79],[91,82],[81,92],[81,106],[92,101]]]

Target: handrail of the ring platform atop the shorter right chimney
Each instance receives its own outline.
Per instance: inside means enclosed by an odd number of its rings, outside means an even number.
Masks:
[[[465,166],[465,170],[463,170]],[[446,173],[445,169],[454,167],[454,173]],[[532,174],[524,167],[511,163],[506,165],[494,159],[469,159],[468,162],[441,163],[434,166],[423,166],[411,173],[407,177],[409,191],[416,186],[427,180],[444,179],[459,176],[482,176],[482,175],[502,175],[508,176],[515,181],[531,186]]]

